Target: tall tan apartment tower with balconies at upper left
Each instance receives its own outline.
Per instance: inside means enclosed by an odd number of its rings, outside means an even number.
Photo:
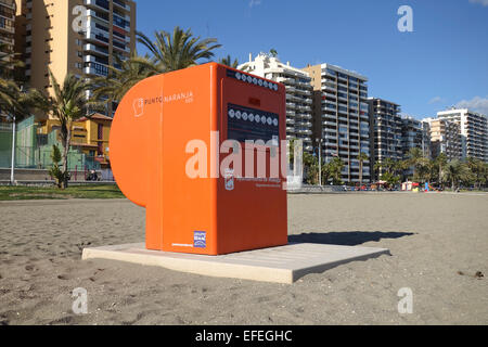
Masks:
[[[127,59],[136,49],[131,0],[16,0],[16,37],[22,40],[17,52],[31,88],[51,90],[48,68],[59,82],[68,73],[106,76],[115,55]]]

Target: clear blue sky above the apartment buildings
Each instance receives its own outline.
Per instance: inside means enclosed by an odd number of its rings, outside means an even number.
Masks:
[[[137,0],[138,29],[175,26],[240,62],[275,49],[295,67],[331,63],[369,77],[370,97],[433,117],[447,106],[488,114],[488,0]],[[401,5],[413,33],[400,33]],[[140,48],[140,52],[143,50]]]

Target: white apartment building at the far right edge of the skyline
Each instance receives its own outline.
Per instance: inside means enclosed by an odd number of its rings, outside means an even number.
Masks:
[[[487,116],[465,108],[437,113],[437,118],[455,123],[460,128],[462,158],[474,157],[488,163]]]

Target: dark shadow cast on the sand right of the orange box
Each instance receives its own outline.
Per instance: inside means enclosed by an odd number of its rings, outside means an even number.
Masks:
[[[414,235],[410,232],[381,232],[381,231],[345,231],[328,233],[308,233],[290,235],[290,243],[316,243],[338,246],[358,246],[367,242],[380,242],[383,239],[401,239]]]

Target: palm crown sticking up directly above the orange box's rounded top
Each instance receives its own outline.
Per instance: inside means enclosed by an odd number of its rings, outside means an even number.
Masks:
[[[169,73],[198,64],[201,60],[214,57],[214,50],[221,47],[217,39],[193,37],[191,29],[175,27],[172,35],[156,31],[155,41],[138,31],[138,42],[142,43],[152,54],[152,61],[159,73]]]

